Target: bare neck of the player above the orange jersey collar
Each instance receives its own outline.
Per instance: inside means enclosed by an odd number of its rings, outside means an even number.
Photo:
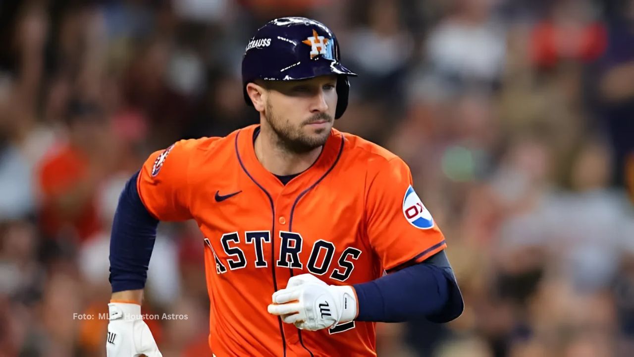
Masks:
[[[274,135],[267,130],[262,130],[254,143],[258,161],[274,175],[285,176],[304,172],[319,158],[323,149],[320,146],[304,154],[297,154],[282,147]]]

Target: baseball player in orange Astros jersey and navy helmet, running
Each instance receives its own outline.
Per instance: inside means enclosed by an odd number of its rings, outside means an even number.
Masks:
[[[398,156],[333,128],[339,44],[278,18],[242,61],[258,125],[157,151],[120,196],[110,243],[109,357],[161,356],[140,318],[159,221],[204,234],[215,356],[375,356],[375,323],[462,313],[446,242]]]

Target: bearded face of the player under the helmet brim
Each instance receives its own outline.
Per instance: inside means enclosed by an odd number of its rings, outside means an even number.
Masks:
[[[309,152],[326,143],[335,121],[337,76],[268,83],[266,122],[290,152]]]

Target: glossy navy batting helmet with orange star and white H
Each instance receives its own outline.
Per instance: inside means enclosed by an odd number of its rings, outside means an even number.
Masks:
[[[337,110],[339,119],[348,105],[350,82],[356,76],[339,63],[337,37],[326,25],[305,17],[276,18],[260,27],[251,37],[242,58],[242,90],[254,79],[293,81],[337,74]]]

